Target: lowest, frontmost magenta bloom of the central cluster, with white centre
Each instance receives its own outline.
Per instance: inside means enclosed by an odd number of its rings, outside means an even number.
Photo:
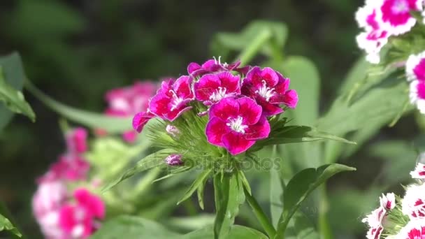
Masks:
[[[233,155],[245,152],[256,140],[267,138],[269,133],[270,124],[262,115],[261,106],[253,99],[225,98],[210,108],[207,140]]]

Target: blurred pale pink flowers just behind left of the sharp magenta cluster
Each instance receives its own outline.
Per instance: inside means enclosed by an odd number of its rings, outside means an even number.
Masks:
[[[150,97],[157,90],[157,85],[153,82],[135,82],[129,87],[111,89],[106,92],[105,99],[108,108],[105,113],[112,117],[131,117],[136,113],[147,110]],[[122,138],[128,143],[134,143],[136,132],[126,131]]]

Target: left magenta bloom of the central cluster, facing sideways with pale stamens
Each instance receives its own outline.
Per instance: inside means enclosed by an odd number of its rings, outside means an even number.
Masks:
[[[188,75],[162,82],[161,89],[150,100],[149,111],[161,119],[173,121],[192,108],[187,106],[194,99],[191,84],[192,78]]]

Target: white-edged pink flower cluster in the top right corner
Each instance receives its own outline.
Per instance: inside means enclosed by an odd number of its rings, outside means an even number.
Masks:
[[[366,0],[356,12],[356,21],[363,29],[356,40],[366,59],[379,63],[380,50],[388,38],[410,31],[417,22],[410,12],[422,10],[423,0]]]

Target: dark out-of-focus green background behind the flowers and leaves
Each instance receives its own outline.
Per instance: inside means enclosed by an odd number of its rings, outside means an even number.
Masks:
[[[257,19],[280,21],[289,27],[285,54],[308,57],[319,68],[320,104],[325,111],[340,81],[361,57],[355,43],[359,29],[354,12],[362,4],[362,0],[6,0],[0,1],[0,54],[17,50],[28,77],[43,92],[68,105],[101,112],[108,89],[131,85],[135,79],[178,76],[189,62],[210,59],[210,42],[217,32],[240,31]],[[64,142],[58,115],[26,95],[37,122],[15,116],[0,134],[0,198],[31,236],[31,232],[38,235],[31,217],[34,180],[56,160]],[[409,140],[417,131],[412,122],[411,117],[401,119],[368,145],[385,138]],[[376,179],[383,159],[374,157],[368,145],[345,161],[357,172],[333,178],[330,191],[362,190]],[[394,150],[391,145],[383,150],[390,148]],[[400,155],[398,164],[413,157]],[[352,203],[361,201],[358,195],[340,193]],[[356,210],[356,206],[336,208]],[[361,227],[352,229],[338,217],[331,214],[336,236],[362,233]]]

